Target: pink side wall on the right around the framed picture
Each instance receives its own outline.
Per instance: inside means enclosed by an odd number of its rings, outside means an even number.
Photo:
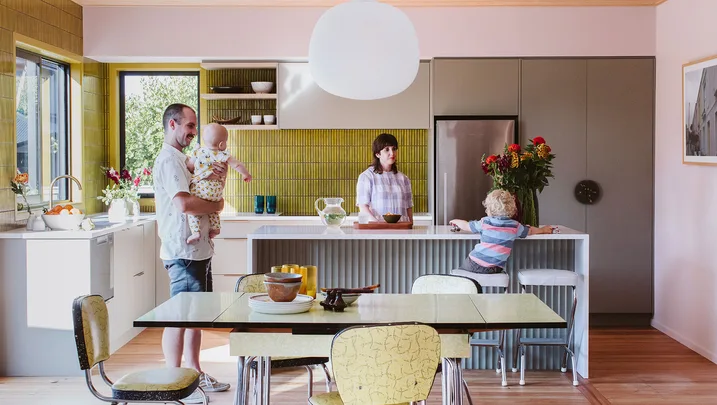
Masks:
[[[655,318],[717,362],[717,166],[682,164],[682,65],[717,55],[717,1],[657,8]]]

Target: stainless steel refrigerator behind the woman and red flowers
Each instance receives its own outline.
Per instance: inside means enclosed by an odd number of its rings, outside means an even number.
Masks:
[[[434,128],[436,224],[482,218],[493,182],[481,169],[481,157],[518,143],[518,117],[437,116]]]

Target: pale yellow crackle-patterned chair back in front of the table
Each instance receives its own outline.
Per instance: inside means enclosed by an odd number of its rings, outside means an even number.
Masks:
[[[344,329],[331,345],[334,379],[345,405],[427,399],[440,357],[438,332],[415,323]]]

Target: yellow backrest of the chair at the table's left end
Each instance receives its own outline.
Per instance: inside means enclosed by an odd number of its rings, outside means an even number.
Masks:
[[[109,315],[100,295],[85,295],[72,303],[72,323],[80,368],[88,370],[110,357]]]

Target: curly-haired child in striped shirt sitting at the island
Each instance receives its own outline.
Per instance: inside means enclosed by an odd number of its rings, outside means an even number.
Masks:
[[[513,243],[517,238],[541,233],[553,233],[553,228],[544,226],[533,228],[523,226],[511,219],[517,208],[513,195],[505,190],[493,190],[483,201],[486,214],[480,221],[464,221],[454,219],[450,224],[464,231],[480,235],[480,242],[475,245],[466,260],[459,267],[473,273],[500,273],[510,257]]]

